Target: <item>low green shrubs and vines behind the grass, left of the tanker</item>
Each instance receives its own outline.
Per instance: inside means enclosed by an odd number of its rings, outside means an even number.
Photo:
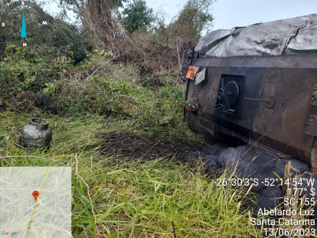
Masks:
[[[0,62],[0,77],[5,79],[0,93],[11,109],[58,105],[68,113],[130,118],[149,126],[178,123],[182,110],[174,101],[177,89],[166,83],[153,91],[151,85],[139,81],[137,70],[118,67],[109,60],[112,57],[105,50],[93,50],[81,64],[74,65],[73,60],[40,56],[34,48],[9,45]]]

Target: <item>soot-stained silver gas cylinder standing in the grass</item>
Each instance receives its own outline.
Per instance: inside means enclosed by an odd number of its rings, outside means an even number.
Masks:
[[[49,122],[43,118],[31,118],[29,125],[23,127],[19,141],[28,150],[49,149],[52,141],[52,130],[49,129]]]

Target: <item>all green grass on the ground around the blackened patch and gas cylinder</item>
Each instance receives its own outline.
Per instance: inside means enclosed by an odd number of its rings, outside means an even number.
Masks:
[[[17,144],[20,129],[34,116],[48,119],[53,130],[51,149],[45,153],[30,153]],[[213,178],[204,175],[201,164],[193,169],[172,163],[172,155],[140,161],[118,160],[116,155],[100,153],[100,133],[149,133],[149,128],[136,124],[137,132],[128,124],[131,121],[93,115],[59,117],[3,112],[0,147],[5,155],[39,156],[73,168],[74,237],[258,236],[256,228],[249,225],[250,213],[242,210],[246,191],[215,186]],[[168,128],[152,128],[150,134],[155,133],[173,134]],[[175,133],[177,136],[183,135]],[[0,165],[60,166],[25,157],[1,159]]]

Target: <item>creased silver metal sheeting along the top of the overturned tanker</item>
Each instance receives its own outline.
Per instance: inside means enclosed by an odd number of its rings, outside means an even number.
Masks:
[[[216,30],[195,48],[210,56],[269,56],[317,53],[317,14]]]

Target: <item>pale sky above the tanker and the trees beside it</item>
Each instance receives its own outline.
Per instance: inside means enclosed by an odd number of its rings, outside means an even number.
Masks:
[[[171,20],[186,2],[146,0],[148,7],[154,11],[162,5],[169,15],[167,20]],[[218,30],[317,13],[317,0],[217,0],[211,8],[214,17],[212,30]]]

